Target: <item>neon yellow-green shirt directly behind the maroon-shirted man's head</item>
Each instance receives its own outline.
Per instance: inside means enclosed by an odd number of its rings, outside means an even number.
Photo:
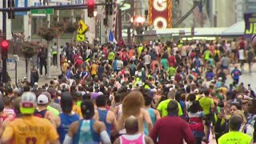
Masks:
[[[158,110],[160,111],[160,114],[162,117],[168,115],[167,106],[170,101],[171,101],[171,99],[166,99],[159,103]],[[179,103],[178,103],[178,115],[183,115],[182,106]]]

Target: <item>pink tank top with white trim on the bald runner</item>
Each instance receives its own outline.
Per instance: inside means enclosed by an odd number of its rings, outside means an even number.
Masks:
[[[127,135],[123,134],[120,136],[120,144],[145,144],[144,134],[134,134],[134,135]]]

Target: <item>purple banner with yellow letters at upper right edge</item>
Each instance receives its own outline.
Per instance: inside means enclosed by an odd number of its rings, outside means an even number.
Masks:
[[[244,14],[246,29],[244,38],[251,38],[254,34],[256,34],[256,13]]]

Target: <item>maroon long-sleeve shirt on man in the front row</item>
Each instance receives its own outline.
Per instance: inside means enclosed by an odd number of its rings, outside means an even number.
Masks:
[[[178,116],[166,116],[159,119],[150,131],[150,138],[154,143],[159,144],[182,144],[183,138],[187,144],[194,144],[194,135],[189,124]]]

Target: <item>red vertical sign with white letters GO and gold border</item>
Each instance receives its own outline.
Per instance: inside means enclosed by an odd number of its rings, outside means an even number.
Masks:
[[[149,0],[149,24],[155,30],[172,27],[172,0]]]

